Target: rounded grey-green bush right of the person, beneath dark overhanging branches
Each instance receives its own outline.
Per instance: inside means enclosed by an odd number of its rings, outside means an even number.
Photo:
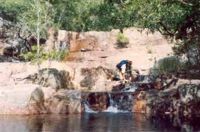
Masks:
[[[181,61],[181,59],[176,56],[170,56],[158,60],[151,69],[150,74],[154,76],[173,74],[186,69],[186,67],[186,62]]]

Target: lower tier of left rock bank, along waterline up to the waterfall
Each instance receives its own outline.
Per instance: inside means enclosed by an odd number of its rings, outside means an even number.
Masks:
[[[27,84],[0,89],[0,114],[72,114],[81,113],[81,93]]]

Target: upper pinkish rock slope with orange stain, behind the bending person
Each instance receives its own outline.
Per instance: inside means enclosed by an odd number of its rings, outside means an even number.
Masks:
[[[117,48],[116,39],[119,30],[110,32],[58,32],[58,43],[69,43],[71,53],[66,60],[81,63],[82,67],[106,66],[115,68],[122,59],[133,61],[133,67],[140,71],[153,66],[156,60],[172,54],[171,44],[158,32],[148,33],[137,28],[124,30],[128,38],[127,48]]]

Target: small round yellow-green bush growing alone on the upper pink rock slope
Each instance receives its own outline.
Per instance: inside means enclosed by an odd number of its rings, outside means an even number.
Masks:
[[[128,44],[129,44],[128,38],[126,36],[124,36],[123,33],[118,33],[117,34],[117,46],[119,48],[126,48]]]

